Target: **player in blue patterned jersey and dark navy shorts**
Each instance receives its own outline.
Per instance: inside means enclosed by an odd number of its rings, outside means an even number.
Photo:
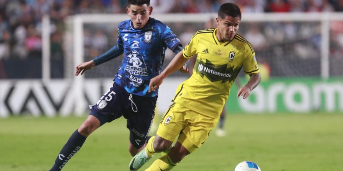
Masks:
[[[146,144],[158,93],[148,91],[150,79],[160,73],[167,47],[174,53],[182,50],[171,29],[149,17],[152,12],[149,3],[149,0],[128,0],[126,10],[131,19],[119,23],[118,44],[76,66],[75,75],[82,75],[86,70],[124,54],[113,86],[90,107],[90,115],[73,132],[50,171],[62,170],[94,130],[121,116],[127,120],[126,127],[130,130],[130,154],[134,156]],[[180,71],[188,72],[188,69],[181,67]]]

